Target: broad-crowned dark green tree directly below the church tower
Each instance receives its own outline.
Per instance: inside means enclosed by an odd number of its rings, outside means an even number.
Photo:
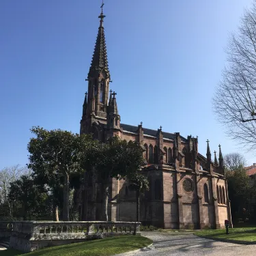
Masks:
[[[111,178],[121,180],[132,173],[137,173],[143,165],[143,150],[136,141],[127,143],[118,137],[111,137],[107,143],[94,141],[89,148],[90,150],[87,148],[83,154],[83,166],[92,172],[93,184],[97,180],[102,186],[102,218],[108,221],[109,181]]]

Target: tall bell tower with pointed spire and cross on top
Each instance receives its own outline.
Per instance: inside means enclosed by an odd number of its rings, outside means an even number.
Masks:
[[[100,27],[94,48],[94,55],[91,60],[89,73],[85,81],[88,82],[88,90],[85,94],[83,104],[83,116],[81,119],[80,134],[94,132],[94,124],[106,124],[108,111],[109,82],[109,63],[106,54],[106,41],[104,34],[103,6],[101,5]]]

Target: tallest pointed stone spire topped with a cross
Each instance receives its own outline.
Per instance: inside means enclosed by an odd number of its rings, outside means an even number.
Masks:
[[[109,63],[107,59],[106,54],[106,41],[105,41],[105,34],[104,34],[104,27],[103,27],[103,21],[105,18],[105,15],[103,14],[103,6],[104,3],[102,1],[102,12],[99,16],[100,18],[100,27],[98,29],[98,36],[94,48],[94,55],[92,57],[91,61],[91,67],[89,69],[88,73],[88,79],[91,77],[96,77],[100,74],[100,72],[104,71],[105,78],[110,79],[109,74]]]

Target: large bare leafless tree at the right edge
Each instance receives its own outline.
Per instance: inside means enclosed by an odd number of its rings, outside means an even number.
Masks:
[[[242,16],[227,46],[227,66],[213,98],[231,139],[256,149],[256,1]]]

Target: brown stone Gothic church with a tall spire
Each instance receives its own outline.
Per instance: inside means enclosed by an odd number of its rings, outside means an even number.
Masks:
[[[103,5],[102,5],[103,6]],[[164,229],[219,229],[225,220],[231,224],[227,180],[223,155],[210,153],[206,158],[198,152],[198,138],[182,137],[179,132],[151,130],[143,124],[122,124],[117,109],[115,91],[110,90],[109,71],[104,35],[103,10],[93,58],[87,76],[88,89],[83,103],[81,134],[93,134],[102,142],[118,136],[126,141],[137,141],[143,148],[147,165],[142,173],[150,182],[150,190],[141,195],[140,220],[143,225]],[[129,190],[126,180],[109,181],[109,221],[136,221],[136,195]],[[81,221],[100,221],[102,192],[85,173],[78,196]]]

